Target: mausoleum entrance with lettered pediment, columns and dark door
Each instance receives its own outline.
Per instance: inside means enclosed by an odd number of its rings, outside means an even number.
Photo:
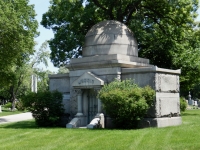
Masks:
[[[72,87],[77,91],[77,114],[67,127],[81,127],[91,122],[102,113],[101,101],[97,98],[98,90],[104,85],[104,81],[91,72],[83,73],[73,83]]]

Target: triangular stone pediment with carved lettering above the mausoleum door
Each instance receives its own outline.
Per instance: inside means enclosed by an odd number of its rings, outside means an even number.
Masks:
[[[93,88],[104,85],[104,81],[91,72],[85,72],[72,83],[74,88]]]

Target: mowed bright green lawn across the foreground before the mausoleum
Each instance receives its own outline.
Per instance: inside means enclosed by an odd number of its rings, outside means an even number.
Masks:
[[[39,128],[34,121],[0,125],[1,150],[199,150],[200,110],[181,126],[138,130]]]

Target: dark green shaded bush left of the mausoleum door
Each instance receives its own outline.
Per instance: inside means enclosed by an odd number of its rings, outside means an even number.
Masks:
[[[22,102],[39,126],[58,126],[64,113],[62,93],[58,91],[27,94]]]

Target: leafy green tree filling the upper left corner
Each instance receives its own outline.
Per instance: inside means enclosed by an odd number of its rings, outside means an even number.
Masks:
[[[34,52],[34,37],[38,34],[33,5],[28,0],[0,1],[0,76],[1,86],[14,77],[10,70],[21,66]]]

